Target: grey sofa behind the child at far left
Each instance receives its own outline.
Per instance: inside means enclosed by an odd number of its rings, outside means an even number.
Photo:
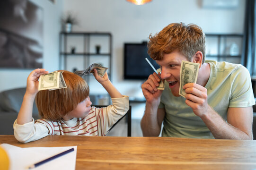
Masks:
[[[25,92],[26,87],[21,87],[0,93],[0,135],[13,135],[13,123],[17,119]],[[33,118],[39,118],[35,102]]]

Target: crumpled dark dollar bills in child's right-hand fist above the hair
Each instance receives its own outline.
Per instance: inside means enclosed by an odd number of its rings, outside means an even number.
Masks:
[[[79,76],[85,76],[85,75],[88,75],[89,73],[93,73],[94,68],[97,70],[97,73],[99,76],[104,76],[107,70],[106,67],[103,67],[97,63],[93,63],[85,70],[76,70],[74,73]]]

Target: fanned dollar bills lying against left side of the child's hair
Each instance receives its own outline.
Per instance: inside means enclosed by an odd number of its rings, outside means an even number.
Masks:
[[[62,72],[54,71],[39,77],[38,90],[56,90],[67,88]]]

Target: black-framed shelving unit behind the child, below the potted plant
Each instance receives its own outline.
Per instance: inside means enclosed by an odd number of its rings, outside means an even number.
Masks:
[[[97,51],[96,46],[100,45]],[[107,67],[107,74],[111,78],[112,61],[112,34],[98,32],[61,32],[59,69],[71,72],[83,70],[93,63]],[[100,101],[107,95],[106,90],[97,82],[92,74],[83,76],[90,87],[91,100]],[[108,95],[107,95],[108,96]],[[109,104],[106,102],[94,102],[94,105]]]

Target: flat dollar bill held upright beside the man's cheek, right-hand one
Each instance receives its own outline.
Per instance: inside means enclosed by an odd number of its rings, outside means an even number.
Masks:
[[[185,90],[183,86],[187,83],[196,83],[198,71],[199,71],[199,63],[189,62],[189,61],[181,61],[180,67],[180,84],[179,84],[179,95],[185,97]]]

